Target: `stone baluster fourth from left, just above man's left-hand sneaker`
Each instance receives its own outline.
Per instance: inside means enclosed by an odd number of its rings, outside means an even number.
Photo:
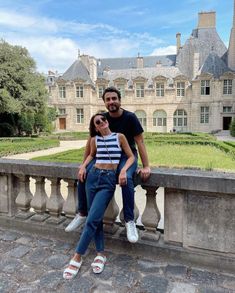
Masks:
[[[73,179],[64,179],[68,183],[68,197],[64,201],[63,212],[69,218],[73,218],[77,211],[78,196],[77,196],[77,184]]]

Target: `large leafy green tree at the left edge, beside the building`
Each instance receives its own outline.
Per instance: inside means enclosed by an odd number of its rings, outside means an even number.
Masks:
[[[27,49],[0,40],[0,123],[12,125],[16,133],[31,133],[38,116],[47,120],[47,98],[45,79]],[[40,123],[40,129],[46,124]]]

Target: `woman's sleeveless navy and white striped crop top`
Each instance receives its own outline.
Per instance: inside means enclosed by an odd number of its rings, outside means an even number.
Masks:
[[[118,133],[95,137],[96,163],[97,164],[119,164],[122,149],[120,147]]]

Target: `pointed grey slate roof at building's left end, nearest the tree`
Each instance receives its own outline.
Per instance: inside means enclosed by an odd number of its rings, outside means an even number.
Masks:
[[[77,80],[83,79],[88,84],[93,84],[89,71],[81,60],[76,60],[66,72],[59,78],[63,80]]]

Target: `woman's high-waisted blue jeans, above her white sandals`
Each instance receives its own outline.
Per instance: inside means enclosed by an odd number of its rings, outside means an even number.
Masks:
[[[87,176],[86,194],[88,216],[76,247],[76,252],[85,254],[94,238],[97,252],[104,251],[103,217],[116,188],[116,171],[93,167]]]

